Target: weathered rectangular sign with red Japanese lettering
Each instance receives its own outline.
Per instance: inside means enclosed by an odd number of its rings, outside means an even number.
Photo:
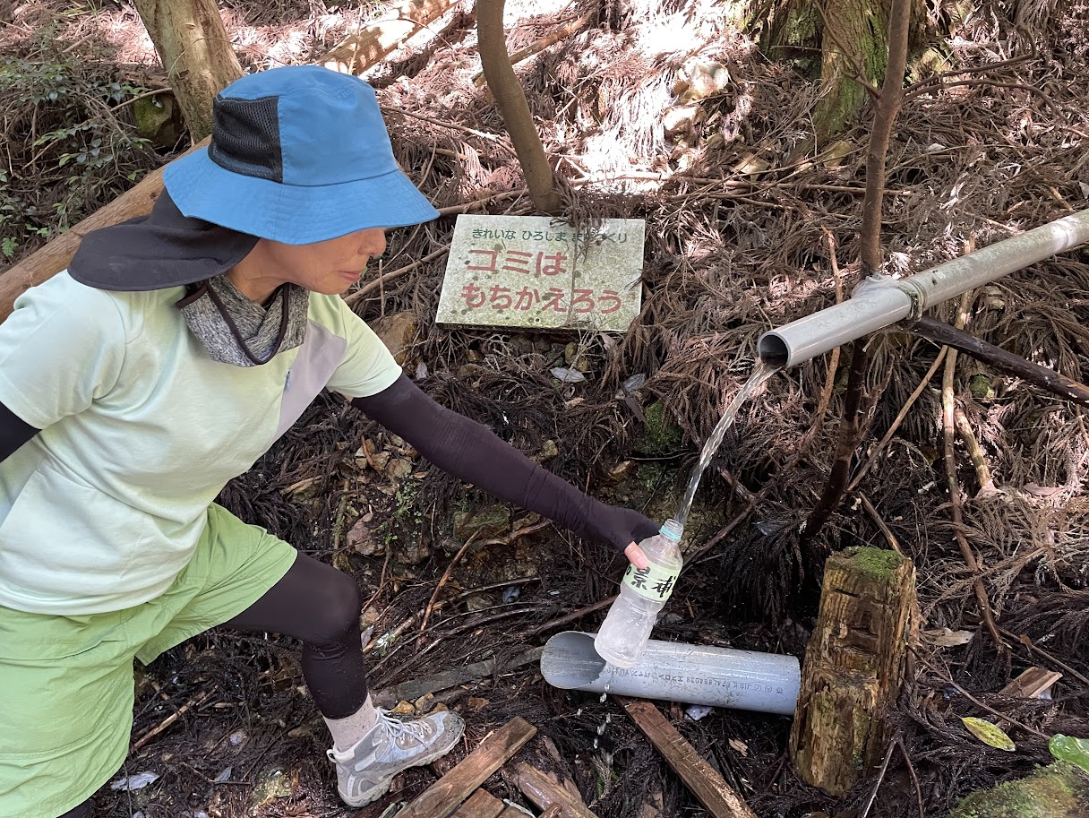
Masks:
[[[439,323],[623,332],[643,301],[643,219],[573,230],[546,216],[458,216]]]

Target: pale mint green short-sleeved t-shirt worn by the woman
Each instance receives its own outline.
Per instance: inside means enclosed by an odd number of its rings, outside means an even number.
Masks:
[[[322,389],[368,396],[401,374],[342,298],[316,293],[302,346],[217,363],[174,306],[183,295],[62,272],[0,325],[0,403],[41,429],[0,463],[0,606],[71,615],[152,599],[227,481]]]

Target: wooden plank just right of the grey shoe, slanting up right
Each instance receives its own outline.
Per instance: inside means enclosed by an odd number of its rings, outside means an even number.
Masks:
[[[394,818],[448,818],[473,791],[537,733],[537,728],[515,716],[489,735],[464,761],[436,781]]]

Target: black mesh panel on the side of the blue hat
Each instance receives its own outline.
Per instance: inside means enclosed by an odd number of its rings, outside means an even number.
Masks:
[[[283,182],[278,101],[279,97],[217,96],[211,107],[208,157],[233,173]]]

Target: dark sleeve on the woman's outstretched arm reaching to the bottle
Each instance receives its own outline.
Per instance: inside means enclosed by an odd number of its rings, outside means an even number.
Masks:
[[[623,551],[658,532],[658,525],[639,512],[587,497],[487,427],[440,406],[404,375],[376,395],[356,398],[352,405],[400,435],[439,468],[582,537]]]

